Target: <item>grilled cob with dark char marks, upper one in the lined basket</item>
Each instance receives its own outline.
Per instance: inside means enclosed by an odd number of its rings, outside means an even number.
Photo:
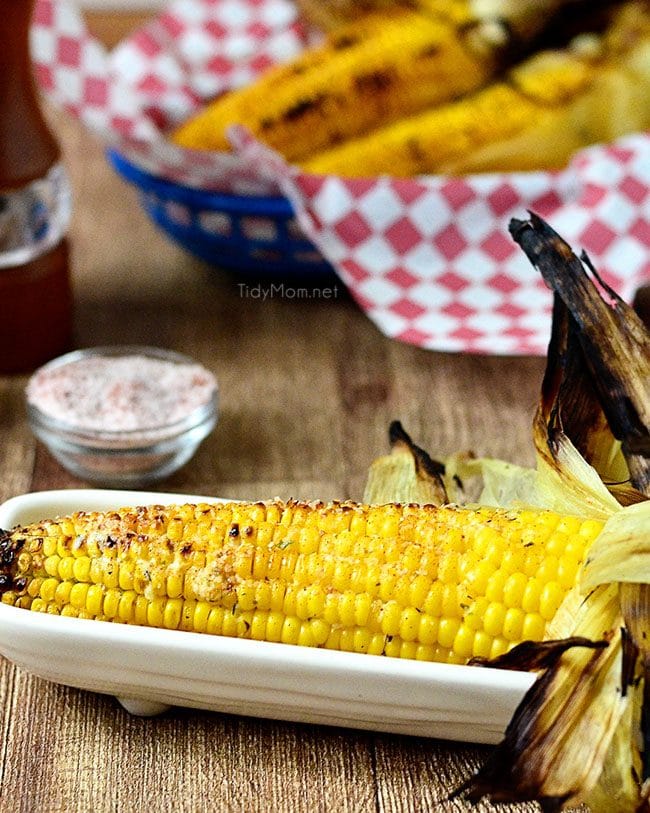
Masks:
[[[368,15],[322,47],[215,100],[173,140],[228,150],[227,129],[243,125],[298,161],[480,87],[506,46],[505,29],[476,22],[466,3],[439,15],[400,8]]]

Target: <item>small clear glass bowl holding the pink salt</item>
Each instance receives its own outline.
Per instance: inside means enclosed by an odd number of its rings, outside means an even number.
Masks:
[[[37,370],[34,376],[82,359],[124,356],[197,365],[187,356],[156,347],[96,347],[60,356]],[[190,460],[216,425],[218,387],[215,381],[209,399],[181,419],[133,430],[85,428],[47,414],[27,394],[26,401],[32,431],[65,469],[97,485],[133,488],[161,480]]]

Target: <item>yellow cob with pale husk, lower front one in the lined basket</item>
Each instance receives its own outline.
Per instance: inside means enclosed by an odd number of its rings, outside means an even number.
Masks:
[[[558,169],[578,149],[650,127],[650,14],[626,5],[609,32],[535,54],[461,100],[302,162],[349,177]]]

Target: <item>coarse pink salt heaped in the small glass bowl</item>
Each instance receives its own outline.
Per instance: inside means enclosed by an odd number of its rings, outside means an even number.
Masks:
[[[199,364],[144,355],[96,356],[37,370],[27,400],[78,430],[147,432],[206,405],[216,379]]]

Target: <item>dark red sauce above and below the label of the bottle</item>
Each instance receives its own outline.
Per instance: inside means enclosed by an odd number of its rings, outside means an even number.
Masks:
[[[0,25],[0,200],[45,178],[60,159],[39,106],[29,52],[33,0],[11,0]],[[6,203],[3,203],[6,209]],[[34,206],[33,218],[42,214]],[[47,220],[47,215],[44,215]],[[43,224],[41,224],[42,226]],[[38,228],[38,225],[37,225]],[[15,247],[15,240],[12,244]],[[0,233],[0,260],[6,250]],[[72,296],[68,245],[61,237],[27,261],[0,262],[0,373],[26,372],[68,345]]]

